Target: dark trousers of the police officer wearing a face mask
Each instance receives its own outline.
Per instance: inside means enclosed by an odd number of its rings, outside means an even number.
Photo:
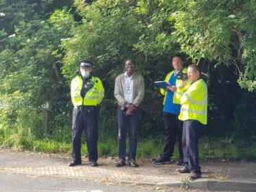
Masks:
[[[81,135],[83,131],[86,134],[89,161],[97,161],[97,142],[99,139],[97,110],[73,110],[72,154],[73,161],[76,163],[81,163]]]

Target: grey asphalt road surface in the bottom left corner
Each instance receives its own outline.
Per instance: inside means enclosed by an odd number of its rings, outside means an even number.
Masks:
[[[0,174],[1,192],[149,192],[150,189],[138,187],[125,187],[116,184],[88,183],[78,179],[44,177],[44,176],[24,176],[20,174]]]

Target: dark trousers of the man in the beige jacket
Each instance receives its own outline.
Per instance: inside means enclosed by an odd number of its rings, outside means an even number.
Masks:
[[[129,133],[129,154],[128,159],[136,159],[140,111],[134,110],[133,115],[126,116],[127,109],[118,109],[118,156],[125,161],[126,156],[126,135]],[[129,128],[128,128],[129,127]]]

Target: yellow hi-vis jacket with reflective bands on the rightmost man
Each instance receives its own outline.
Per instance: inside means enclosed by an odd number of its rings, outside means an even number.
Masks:
[[[207,124],[207,85],[203,79],[178,88],[176,96],[181,104],[179,120],[198,120]]]

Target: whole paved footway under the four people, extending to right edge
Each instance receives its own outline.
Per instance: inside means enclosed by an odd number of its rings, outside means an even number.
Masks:
[[[152,161],[137,161],[139,167],[125,165],[115,167],[116,159],[101,158],[99,167],[92,167],[87,158],[83,164],[68,167],[71,156],[66,154],[42,154],[34,152],[15,152],[0,149],[0,172],[16,174],[36,174],[83,178],[87,180],[112,180],[114,182],[137,182],[141,184],[164,184],[180,187],[188,174],[179,174],[179,165],[153,165]],[[202,178],[189,182],[189,187],[197,189],[256,191],[255,162],[201,161]],[[217,178],[229,178],[225,182]],[[212,184],[211,184],[212,183]],[[222,185],[226,187],[223,187]],[[235,184],[238,184],[236,186]],[[243,186],[244,184],[244,186]],[[242,187],[242,189],[241,189]],[[227,189],[226,189],[227,188]],[[248,189],[247,189],[248,188]]]

